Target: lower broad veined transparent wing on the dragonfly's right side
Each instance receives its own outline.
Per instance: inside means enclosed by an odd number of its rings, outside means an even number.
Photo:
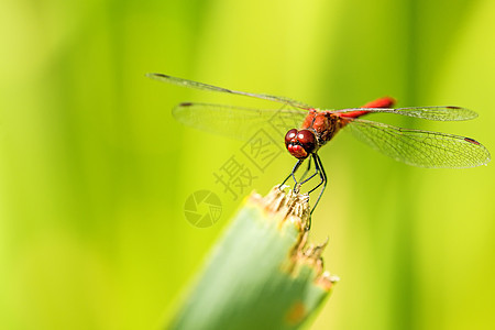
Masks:
[[[477,141],[354,119],[349,130],[385,155],[419,167],[465,168],[487,164],[488,151]]]

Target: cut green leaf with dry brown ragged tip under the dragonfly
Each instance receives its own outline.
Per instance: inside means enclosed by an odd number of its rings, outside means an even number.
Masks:
[[[308,197],[252,194],[169,323],[169,329],[298,329],[329,295],[326,245],[306,244]]]

